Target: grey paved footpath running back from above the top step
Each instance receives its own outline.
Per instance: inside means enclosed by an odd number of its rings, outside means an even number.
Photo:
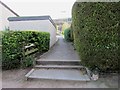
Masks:
[[[40,60],[79,60],[77,52],[74,50],[71,43],[66,42],[62,36],[57,36],[58,42],[51,50],[42,56]]]

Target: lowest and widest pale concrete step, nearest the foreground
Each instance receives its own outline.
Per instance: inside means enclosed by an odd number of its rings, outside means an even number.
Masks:
[[[25,75],[27,79],[49,79],[69,81],[90,81],[87,74],[80,70],[69,69],[32,69]]]

